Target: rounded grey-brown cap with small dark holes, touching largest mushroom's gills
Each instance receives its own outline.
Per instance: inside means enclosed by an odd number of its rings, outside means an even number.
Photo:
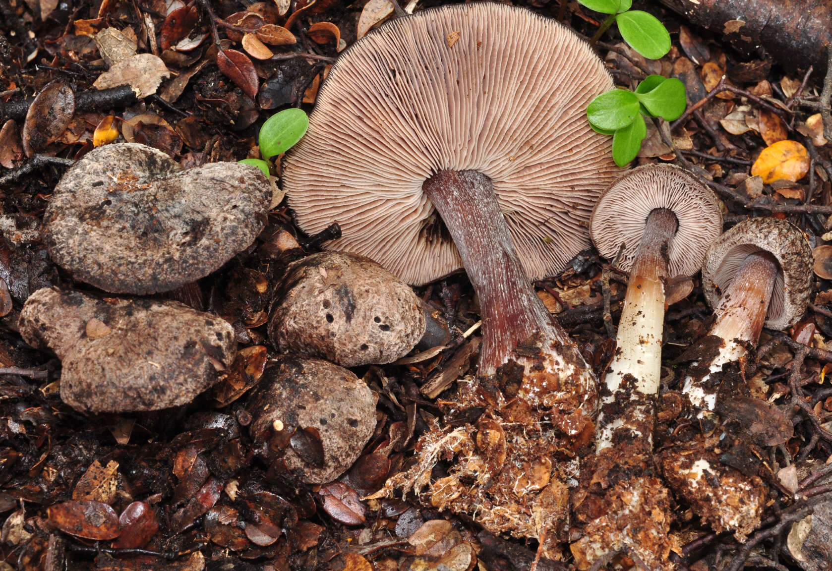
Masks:
[[[280,351],[343,367],[394,362],[424,332],[424,311],[408,284],[369,258],[340,252],[293,263],[269,323]]]

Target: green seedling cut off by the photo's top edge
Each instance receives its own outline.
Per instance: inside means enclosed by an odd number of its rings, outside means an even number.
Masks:
[[[671,35],[658,18],[641,10],[631,10],[632,0],[578,0],[590,10],[608,14],[590,43],[601,37],[613,23],[618,24],[624,41],[642,56],[657,60],[671,49]]]

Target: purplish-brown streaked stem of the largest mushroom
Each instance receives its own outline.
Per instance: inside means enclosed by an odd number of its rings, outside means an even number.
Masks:
[[[478,374],[492,376],[512,361],[523,367],[524,379],[532,369],[545,369],[547,380],[537,383],[537,392],[561,393],[576,403],[547,404],[594,407],[592,372],[532,288],[488,176],[474,170],[442,170],[422,188],[442,216],[477,291],[483,317]],[[518,356],[518,347],[526,357]]]

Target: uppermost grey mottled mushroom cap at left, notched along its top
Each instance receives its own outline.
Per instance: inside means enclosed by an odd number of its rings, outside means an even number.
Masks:
[[[104,145],[56,185],[44,238],[52,259],[83,282],[111,293],[166,292],[252,244],[270,196],[253,166],[183,170],[146,145]]]

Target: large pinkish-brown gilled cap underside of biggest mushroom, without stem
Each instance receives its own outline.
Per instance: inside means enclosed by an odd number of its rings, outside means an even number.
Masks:
[[[396,18],[329,72],[287,155],[289,204],[310,234],[339,223],[329,248],[427,283],[462,261],[423,182],[478,170],[528,276],[552,275],[587,248],[592,205],[621,172],[586,117],[612,88],[586,42],[523,8],[474,2]]]

